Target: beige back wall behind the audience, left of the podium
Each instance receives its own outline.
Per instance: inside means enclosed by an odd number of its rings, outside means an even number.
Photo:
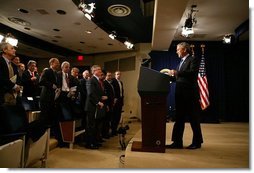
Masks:
[[[147,58],[147,54],[151,51],[150,43],[142,43],[135,45],[135,50],[126,51],[126,52],[117,52],[117,53],[107,53],[107,54],[98,54],[94,56],[87,56],[84,58],[84,61],[78,62],[76,58],[62,58],[59,59],[60,63],[63,61],[69,61],[71,66],[92,66],[93,64],[98,64],[102,68],[104,67],[104,62],[112,61],[116,59],[135,57],[135,70],[132,71],[123,71],[121,72],[121,80],[124,85],[124,116],[132,117],[135,116],[141,119],[141,106],[140,106],[140,97],[137,92],[137,83],[139,77],[139,67],[141,65],[142,59]],[[38,61],[39,72],[45,67],[49,67],[49,59],[41,59]]]

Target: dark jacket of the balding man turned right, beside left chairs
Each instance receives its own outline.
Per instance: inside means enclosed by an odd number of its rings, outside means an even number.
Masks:
[[[39,85],[42,86],[40,103],[43,106],[52,106],[55,99],[55,89],[53,84],[57,85],[57,75],[51,68],[45,69],[39,80]]]

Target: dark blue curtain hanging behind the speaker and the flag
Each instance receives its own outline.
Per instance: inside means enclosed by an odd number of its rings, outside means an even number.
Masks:
[[[175,69],[180,59],[173,42],[168,51],[152,51],[151,68]],[[206,72],[210,106],[202,111],[202,122],[249,121],[249,45],[239,42],[189,42],[194,45],[194,56],[201,58],[201,44],[205,44]],[[174,109],[175,84],[170,84],[168,108]]]

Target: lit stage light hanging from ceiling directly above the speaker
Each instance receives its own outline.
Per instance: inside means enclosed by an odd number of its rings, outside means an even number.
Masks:
[[[196,12],[198,12],[198,10],[194,9],[196,7],[197,5],[191,6],[191,10],[187,16],[188,18],[184,22],[184,26],[182,27],[182,33],[181,33],[183,37],[189,38],[193,36],[194,34],[193,25],[197,23]]]

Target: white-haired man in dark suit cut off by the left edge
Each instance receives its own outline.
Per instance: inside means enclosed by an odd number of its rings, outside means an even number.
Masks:
[[[9,96],[21,90],[20,78],[17,67],[12,63],[16,50],[9,43],[1,44],[2,56],[0,57],[0,105],[6,103]],[[16,81],[11,80],[16,75]],[[15,99],[13,99],[16,104]],[[10,100],[9,100],[10,101]]]

